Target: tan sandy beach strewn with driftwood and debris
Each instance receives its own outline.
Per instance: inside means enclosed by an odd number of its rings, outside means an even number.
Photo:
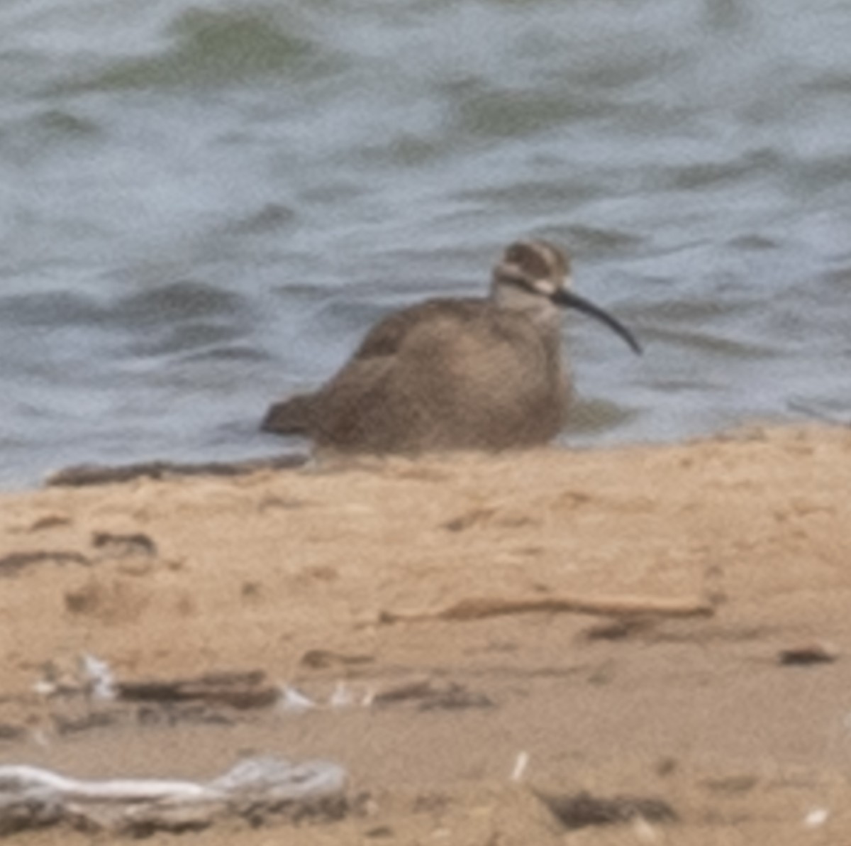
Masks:
[[[851,431],[808,427],[5,494],[0,763],[349,773],[340,820],[225,820],[191,844],[851,842],[849,493]],[[383,621],[557,596],[714,613]],[[84,654],[128,683],[258,672],[231,699],[220,679],[110,701],[80,692]],[[579,827],[541,800],[581,791],[677,819]]]

